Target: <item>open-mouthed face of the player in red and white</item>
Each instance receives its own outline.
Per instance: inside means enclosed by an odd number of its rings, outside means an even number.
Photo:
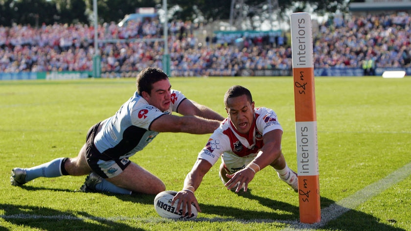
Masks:
[[[227,99],[228,117],[239,133],[248,134],[254,121],[254,102],[249,102],[247,96]]]

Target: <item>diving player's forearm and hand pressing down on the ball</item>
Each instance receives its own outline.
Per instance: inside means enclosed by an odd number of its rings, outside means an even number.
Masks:
[[[197,211],[201,212],[194,192],[200,186],[203,177],[210,170],[211,166],[210,162],[197,159],[193,168],[185,177],[183,190],[177,193],[172,202],[174,204],[178,200],[177,208],[180,208],[180,205],[183,204],[183,214],[185,214],[185,208],[188,208],[188,214],[191,214],[191,204],[197,208]]]

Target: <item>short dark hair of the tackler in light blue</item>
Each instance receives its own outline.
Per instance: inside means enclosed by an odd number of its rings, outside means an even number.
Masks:
[[[164,71],[159,68],[146,68],[141,70],[137,75],[137,93],[141,95],[142,92],[151,93],[153,84],[168,79],[168,76]]]

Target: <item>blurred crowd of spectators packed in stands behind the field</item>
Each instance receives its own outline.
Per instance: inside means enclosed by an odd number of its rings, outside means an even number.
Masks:
[[[284,36],[243,37],[202,43],[191,22],[168,24],[172,76],[236,75],[241,69],[291,69],[290,41]],[[409,67],[411,17],[406,13],[350,16],[326,21],[313,31],[315,68]],[[163,68],[162,24],[156,20],[98,26],[102,73]],[[128,39],[127,42],[116,39]],[[144,39],[144,40],[142,40]],[[157,40],[156,40],[157,39]],[[94,27],[52,24],[34,28],[0,25],[0,72],[86,71],[92,69]]]

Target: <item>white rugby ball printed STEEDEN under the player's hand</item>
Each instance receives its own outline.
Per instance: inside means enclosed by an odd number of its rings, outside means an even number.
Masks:
[[[188,214],[188,208],[185,208],[185,214],[183,214],[183,205],[177,209],[178,200],[171,205],[173,197],[177,195],[176,191],[167,190],[162,191],[157,194],[154,198],[154,208],[156,208],[157,213],[164,218],[171,219],[194,219],[197,217],[197,208],[194,205],[191,205],[191,214]]]

